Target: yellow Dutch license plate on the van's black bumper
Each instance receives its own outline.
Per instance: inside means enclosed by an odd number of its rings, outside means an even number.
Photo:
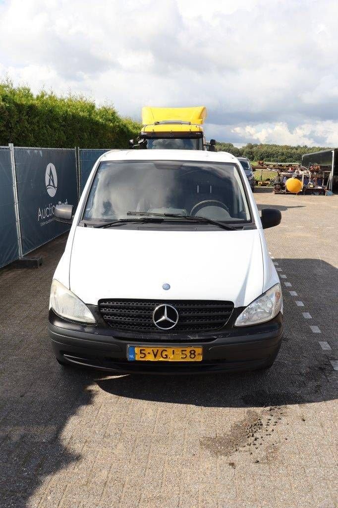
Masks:
[[[129,362],[200,362],[202,347],[128,346]]]

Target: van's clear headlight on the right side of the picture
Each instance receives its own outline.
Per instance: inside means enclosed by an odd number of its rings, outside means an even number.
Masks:
[[[264,321],[269,321],[277,316],[281,308],[281,284],[276,284],[251,302],[238,316],[234,326],[249,326],[264,323]]]

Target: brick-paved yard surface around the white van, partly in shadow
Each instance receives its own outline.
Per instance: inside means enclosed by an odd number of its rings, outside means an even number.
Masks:
[[[64,370],[47,336],[51,277],[0,270],[0,506],[331,508],[336,504],[338,196],[255,194],[284,288],[266,373]]]

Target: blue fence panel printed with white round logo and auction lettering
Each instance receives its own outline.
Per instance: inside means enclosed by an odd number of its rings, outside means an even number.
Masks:
[[[22,251],[27,254],[70,229],[55,205],[78,204],[75,149],[14,148]]]

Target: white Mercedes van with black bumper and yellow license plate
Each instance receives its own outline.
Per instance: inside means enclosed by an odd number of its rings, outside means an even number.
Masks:
[[[63,365],[193,373],[270,367],[282,293],[262,216],[233,155],[117,150],[96,162],[52,281],[49,334]]]

